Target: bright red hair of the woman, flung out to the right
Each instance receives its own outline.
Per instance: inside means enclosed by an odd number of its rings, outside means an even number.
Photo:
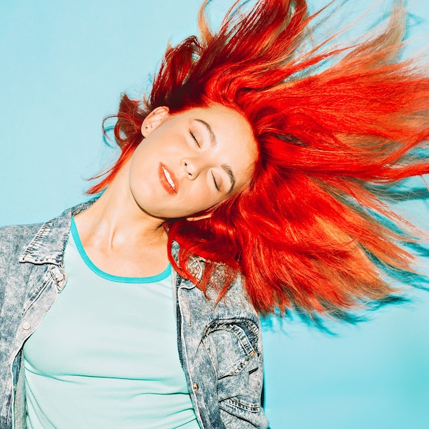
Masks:
[[[89,192],[105,188],[131,156],[151,110],[221,103],[253,127],[254,177],[209,219],[168,222],[170,243],[180,244],[176,269],[202,289],[221,272],[223,293],[240,272],[261,312],[339,317],[388,299],[389,275],[410,271],[403,243],[412,238],[380,196],[429,172],[413,155],[427,149],[429,78],[397,60],[402,3],[384,32],[332,49],[308,47],[324,21],[321,12],[309,16],[305,0],[260,0],[247,12],[237,2],[216,33],[206,3],[201,37],[167,49],[148,99],[123,95],[114,128],[121,157]],[[202,279],[188,268],[195,256],[207,262]]]

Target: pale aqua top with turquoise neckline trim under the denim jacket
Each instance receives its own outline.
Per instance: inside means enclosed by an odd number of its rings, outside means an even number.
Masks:
[[[75,223],[68,282],[26,341],[32,429],[197,429],[177,352],[171,267],[146,278],[100,271]]]

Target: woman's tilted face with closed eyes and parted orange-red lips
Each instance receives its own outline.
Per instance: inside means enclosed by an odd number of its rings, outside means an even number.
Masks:
[[[258,156],[249,123],[224,106],[169,114],[154,110],[130,164],[130,190],[140,208],[160,219],[188,217],[238,193]]]

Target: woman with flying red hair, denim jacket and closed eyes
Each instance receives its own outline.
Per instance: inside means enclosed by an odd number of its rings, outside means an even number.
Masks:
[[[142,106],[123,97],[122,153],[90,190],[104,191],[97,201],[2,230],[1,425],[266,427],[254,308],[341,316],[393,293],[382,269],[407,269],[408,237],[364,210],[389,216],[368,183],[428,171],[406,157],[428,136],[428,79],[393,62],[402,14],[377,40],[328,54],[299,49],[312,22],[303,1],[237,16],[216,35],[202,21],[201,42],[167,51]],[[341,60],[304,74],[327,55]],[[82,260],[107,281],[99,289],[79,278]],[[174,304],[156,295],[168,261]],[[155,304],[161,317],[141,319]],[[151,341],[160,335],[170,341]],[[160,362],[154,385],[124,387],[147,382],[141,362]]]

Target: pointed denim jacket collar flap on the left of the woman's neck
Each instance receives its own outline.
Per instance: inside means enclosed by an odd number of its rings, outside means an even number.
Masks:
[[[62,215],[43,223],[29,245],[19,258],[19,262],[33,264],[55,264],[62,266],[64,250],[69,241],[71,217],[82,212],[94,203],[90,199],[85,203],[65,210]]]

